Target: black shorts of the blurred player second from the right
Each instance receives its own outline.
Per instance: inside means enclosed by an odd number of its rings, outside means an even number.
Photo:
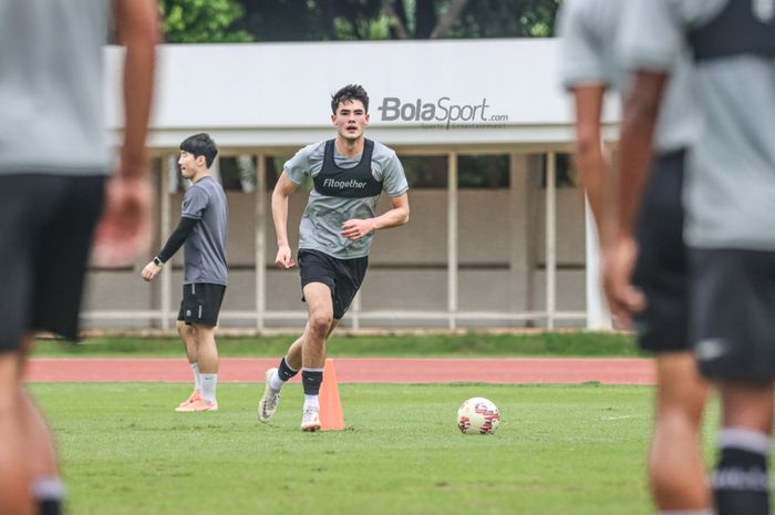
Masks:
[[[654,162],[636,228],[638,261],[632,282],[647,298],[634,327],[638,344],[650,352],[691,349],[689,338],[689,258],[683,243],[685,152]]]

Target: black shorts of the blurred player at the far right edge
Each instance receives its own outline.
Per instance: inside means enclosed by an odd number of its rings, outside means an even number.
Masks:
[[[710,379],[775,379],[775,253],[692,249],[691,331]]]

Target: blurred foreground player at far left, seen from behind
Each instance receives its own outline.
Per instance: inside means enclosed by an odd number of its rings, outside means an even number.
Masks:
[[[123,145],[112,157],[103,54],[126,45]],[[35,331],[79,336],[95,227],[101,265],[130,262],[151,234],[145,137],[158,8],[149,0],[0,0],[0,513],[56,515],[53,441],[22,385]]]

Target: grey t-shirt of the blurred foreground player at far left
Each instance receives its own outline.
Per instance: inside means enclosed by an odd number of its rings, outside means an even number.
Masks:
[[[0,174],[104,175],[111,0],[0,0]]]

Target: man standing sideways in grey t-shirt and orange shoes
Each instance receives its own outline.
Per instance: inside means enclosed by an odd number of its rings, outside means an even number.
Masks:
[[[194,391],[175,411],[217,411],[218,348],[215,328],[228,282],[226,236],[228,205],[223,186],[213,178],[218,148],[207,134],[195,134],[180,143],[177,164],[192,187],[183,197],[180,222],[164,248],[143,268],[152,281],[175,253],[184,247],[183,300],[177,332],[186,347],[194,372]]]

